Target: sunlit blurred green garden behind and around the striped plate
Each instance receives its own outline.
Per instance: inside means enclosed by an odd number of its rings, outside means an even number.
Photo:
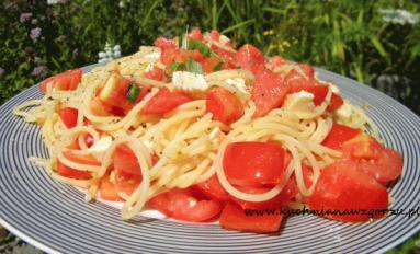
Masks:
[[[0,104],[48,76],[129,55],[186,25],[350,77],[420,114],[415,0],[2,0]],[[398,250],[415,252],[419,239]]]

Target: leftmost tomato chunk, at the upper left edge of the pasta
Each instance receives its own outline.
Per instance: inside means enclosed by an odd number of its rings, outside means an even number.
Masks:
[[[75,69],[49,77],[39,83],[39,90],[41,92],[46,93],[49,84],[52,88],[61,91],[76,90],[81,82],[82,73],[81,69]]]

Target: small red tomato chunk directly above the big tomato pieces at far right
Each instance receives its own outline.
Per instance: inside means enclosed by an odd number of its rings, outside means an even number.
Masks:
[[[345,125],[334,123],[322,145],[331,149],[339,150],[343,143],[361,134],[360,129],[354,129]]]

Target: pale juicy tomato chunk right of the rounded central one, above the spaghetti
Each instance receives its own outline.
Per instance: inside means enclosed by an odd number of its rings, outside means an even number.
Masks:
[[[251,88],[252,100],[257,107],[253,116],[264,116],[271,109],[280,107],[287,93],[288,88],[272,71],[265,70],[257,74],[254,84]]]

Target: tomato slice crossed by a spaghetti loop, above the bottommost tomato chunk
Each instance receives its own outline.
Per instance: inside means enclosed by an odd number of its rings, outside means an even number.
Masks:
[[[274,186],[263,186],[263,187],[252,187],[252,186],[236,186],[239,190],[248,194],[263,194],[272,189]],[[245,201],[236,197],[231,197],[231,199],[238,204],[242,209],[277,209],[293,197],[298,194],[298,188],[296,186],[295,180],[291,178],[287,184],[284,186],[282,192],[269,199],[266,201]]]

